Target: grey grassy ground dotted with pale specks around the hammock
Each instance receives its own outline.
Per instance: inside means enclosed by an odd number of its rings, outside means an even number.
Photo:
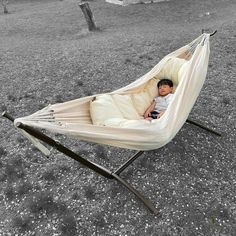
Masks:
[[[190,117],[223,136],[185,125],[123,174],[160,208],[154,216],[118,183],[56,151],[43,157],[0,119],[0,235],[236,235],[235,1],[90,6],[94,33],[75,1],[12,1],[0,13],[1,111],[25,116],[120,88],[202,28],[217,29]],[[55,136],[111,169],[133,153]]]

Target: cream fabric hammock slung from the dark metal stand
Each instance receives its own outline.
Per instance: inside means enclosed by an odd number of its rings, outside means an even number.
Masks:
[[[208,67],[209,36],[204,33],[190,44],[168,54],[151,71],[126,87],[111,93],[49,105],[32,115],[16,119],[15,124],[20,122],[85,141],[134,150],[160,148],[180,130],[200,93]],[[143,119],[141,113],[155,97],[156,82],[162,77],[173,80],[176,86],[174,99],[160,119],[150,122]],[[106,105],[101,107],[103,99],[114,100],[117,97],[131,99],[133,104],[140,102],[140,106],[130,107],[131,110],[136,109],[136,119],[113,115],[104,122],[98,121],[97,108],[100,106],[101,113],[107,109]],[[140,101],[142,98],[147,98],[144,103]],[[119,99],[115,100],[117,109],[121,109],[123,104],[119,104]],[[96,103],[100,105],[95,106]],[[37,145],[37,141],[33,141]],[[43,147],[39,148],[42,150]]]

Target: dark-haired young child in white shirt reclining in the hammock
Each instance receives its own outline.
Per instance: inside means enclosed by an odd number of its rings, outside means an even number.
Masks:
[[[158,96],[144,113],[144,118],[148,120],[160,118],[173,98],[173,82],[169,79],[161,79],[157,83]]]

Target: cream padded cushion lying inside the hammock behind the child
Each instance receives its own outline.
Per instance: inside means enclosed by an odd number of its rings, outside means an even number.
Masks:
[[[90,115],[94,125],[102,126],[129,126],[130,121],[143,122],[143,114],[157,96],[157,81],[168,78],[173,81],[174,87],[179,83],[179,71],[186,62],[184,59],[171,58],[163,69],[149,80],[144,89],[135,94],[102,94],[91,102]],[[137,122],[135,122],[137,123]]]

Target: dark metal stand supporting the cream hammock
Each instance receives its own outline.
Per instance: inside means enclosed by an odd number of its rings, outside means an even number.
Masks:
[[[11,120],[12,122],[14,122],[14,118],[8,114],[7,112],[3,112],[2,114],[3,117]],[[195,121],[192,120],[187,120],[186,122],[190,123],[190,124],[194,124],[202,129],[205,129],[211,133],[214,133],[216,135],[221,136],[220,133],[205,127],[204,125],[201,125]],[[143,154],[144,151],[138,151],[136,154],[134,154],[132,157],[130,157],[124,164],[122,164],[117,170],[115,170],[114,172],[108,170],[107,168],[98,165],[92,161],[89,161],[83,157],[81,157],[79,154],[73,152],[72,150],[70,150],[69,148],[63,146],[62,144],[60,144],[59,142],[55,141],[54,139],[48,137],[47,135],[45,135],[44,133],[42,133],[41,131],[32,128],[28,125],[22,124],[22,123],[17,123],[16,126],[20,129],[23,129],[24,131],[26,131],[27,133],[29,133],[30,135],[34,136],[35,138],[47,143],[48,145],[50,145],[51,147],[57,149],[59,152],[64,153],[65,155],[67,155],[68,157],[78,161],[79,163],[81,163],[82,165],[88,167],[89,169],[95,171],[96,173],[108,178],[108,179],[115,179],[117,180],[120,184],[122,184],[123,186],[125,186],[128,190],[130,190],[133,194],[135,194],[135,196],[143,202],[143,204],[154,214],[158,214],[158,209],[155,208],[155,206],[151,203],[151,201],[149,199],[147,199],[142,193],[140,193],[138,190],[136,190],[135,188],[133,188],[127,181],[125,181],[124,179],[122,179],[120,177],[120,174],[127,168],[129,167],[139,156],[141,156]]]

